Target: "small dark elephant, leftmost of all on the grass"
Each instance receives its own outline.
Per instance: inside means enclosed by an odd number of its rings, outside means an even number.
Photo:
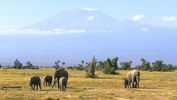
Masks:
[[[38,86],[41,90],[41,79],[39,76],[33,76],[30,78],[30,83],[29,85],[33,90],[38,90]]]

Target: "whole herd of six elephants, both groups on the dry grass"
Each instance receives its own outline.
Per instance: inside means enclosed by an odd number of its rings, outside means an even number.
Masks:
[[[65,91],[67,88],[68,81],[68,72],[64,68],[60,68],[54,73],[54,80],[52,85],[52,76],[46,75],[44,77],[44,86],[55,86],[58,84],[58,89],[60,91]],[[124,78],[124,86],[125,88],[139,88],[140,82],[140,72],[139,70],[132,70],[127,73],[127,78]],[[39,76],[33,76],[30,78],[29,85],[33,90],[38,90],[38,87],[41,90],[41,79]]]

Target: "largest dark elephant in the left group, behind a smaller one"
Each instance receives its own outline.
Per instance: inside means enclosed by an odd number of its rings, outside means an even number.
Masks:
[[[66,84],[65,87],[67,88],[67,81],[68,81],[68,72],[64,69],[64,68],[60,68],[58,70],[55,71],[54,74],[54,83],[52,88],[55,86],[56,82],[58,83],[58,89],[59,89],[59,80],[61,77],[65,77],[66,78]]]

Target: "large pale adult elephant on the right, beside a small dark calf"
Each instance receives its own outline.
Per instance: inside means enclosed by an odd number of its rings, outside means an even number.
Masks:
[[[139,88],[140,72],[139,70],[132,70],[127,73],[129,87]]]

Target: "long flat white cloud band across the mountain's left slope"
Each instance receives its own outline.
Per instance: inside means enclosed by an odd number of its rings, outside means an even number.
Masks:
[[[8,29],[0,30],[0,35],[50,35],[50,34],[72,34],[72,33],[84,33],[83,29],[60,29],[55,28],[52,30],[38,30],[38,29]]]

